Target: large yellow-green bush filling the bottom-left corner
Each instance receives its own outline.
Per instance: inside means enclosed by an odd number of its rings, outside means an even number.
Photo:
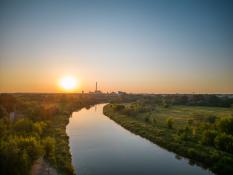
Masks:
[[[9,137],[0,142],[0,169],[2,174],[27,175],[34,160],[41,155],[40,143],[35,137]]]

